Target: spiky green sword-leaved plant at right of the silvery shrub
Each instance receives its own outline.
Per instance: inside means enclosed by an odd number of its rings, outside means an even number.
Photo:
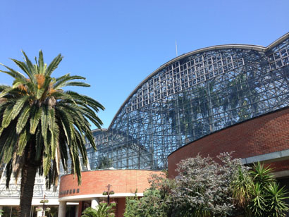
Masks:
[[[245,210],[245,216],[285,216],[287,192],[276,184],[273,170],[262,163],[254,163],[249,173],[240,171],[233,181],[233,197]]]

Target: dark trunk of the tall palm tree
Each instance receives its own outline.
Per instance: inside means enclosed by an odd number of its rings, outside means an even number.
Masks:
[[[18,217],[30,217],[36,172],[37,166],[30,163],[25,163],[25,165],[23,165],[20,188],[20,211]]]

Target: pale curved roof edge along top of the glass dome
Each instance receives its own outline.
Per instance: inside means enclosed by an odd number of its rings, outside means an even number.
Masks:
[[[152,72],[150,75],[148,75],[144,80],[142,80],[142,82],[140,82],[139,85],[137,85],[137,87],[135,87],[133,92],[131,92],[130,95],[128,96],[128,98],[125,99],[125,101],[121,105],[120,109],[118,109],[118,112],[113,117],[113,120],[111,121],[111,124],[109,125],[108,130],[111,129],[111,126],[113,125],[113,122],[116,120],[118,114],[121,112],[121,109],[123,109],[123,106],[125,106],[125,104],[128,102],[128,100],[133,96],[133,94],[135,94],[135,92],[137,92],[137,89],[142,87],[144,82],[147,82],[147,80],[149,80],[149,78],[151,78],[154,75],[156,75],[156,73],[159,73],[160,70],[166,68],[166,66],[169,66],[172,63],[174,63],[176,61],[179,61],[180,59],[185,58],[187,56],[192,56],[194,54],[199,54],[199,53],[202,53],[202,52],[205,52],[205,51],[213,51],[213,50],[219,50],[219,49],[244,49],[244,50],[255,50],[255,51],[266,52],[266,51],[272,49],[277,44],[283,42],[283,40],[287,39],[288,37],[289,37],[289,32],[286,33],[285,35],[283,35],[282,37],[278,38],[275,42],[269,44],[269,46],[259,46],[259,45],[253,45],[253,44],[223,44],[223,45],[216,45],[216,46],[208,46],[206,48],[197,49],[195,51],[190,51],[190,52],[188,52],[186,54],[182,54],[180,56],[177,56],[176,58],[171,59],[171,61],[168,61],[168,62],[164,63],[159,68],[154,70],[154,72]]]

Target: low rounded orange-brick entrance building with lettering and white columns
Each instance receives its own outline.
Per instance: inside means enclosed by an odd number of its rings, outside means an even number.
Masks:
[[[123,217],[125,197],[143,196],[149,187],[150,175],[160,175],[161,171],[147,170],[100,170],[82,173],[82,185],[73,175],[63,175],[59,189],[59,216],[66,215],[66,203],[77,202],[78,206],[71,206],[72,216],[81,216],[85,208],[95,207],[99,202],[107,201],[103,192],[113,191],[110,202],[116,202],[116,216]]]

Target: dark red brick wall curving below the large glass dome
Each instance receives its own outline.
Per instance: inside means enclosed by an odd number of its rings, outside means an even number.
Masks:
[[[246,158],[284,149],[289,149],[289,108],[230,126],[181,147],[168,156],[168,175],[175,177],[176,163],[198,153],[214,157],[235,151],[233,157]],[[278,164],[288,167],[287,163]]]

